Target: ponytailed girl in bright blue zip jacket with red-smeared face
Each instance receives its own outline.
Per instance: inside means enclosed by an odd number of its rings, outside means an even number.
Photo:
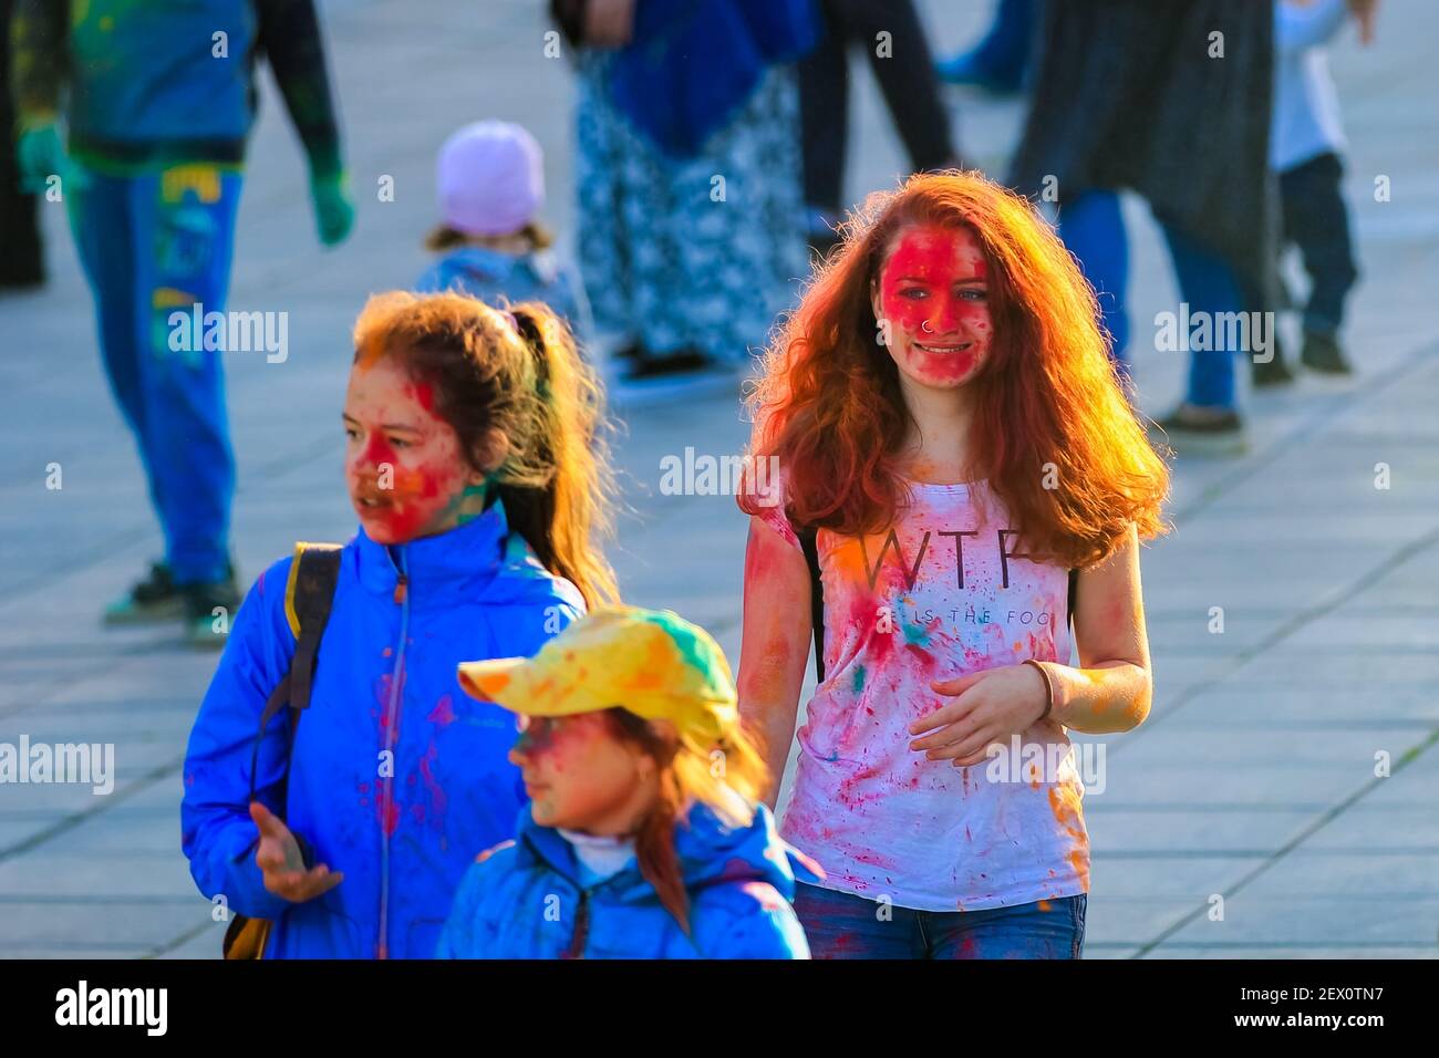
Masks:
[[[456,665],[532,652],[616,596],[590,546],[609,528],[599,390],[548,308],[389,294],[354,337],[360,531],[304,723],[281,710],[259,734],[299,626],[282,559],[235,619],[184,764],[190,871],[272,923],[266,957],[435,953],[465,868],[524,803],[514,720],[460,694]]]

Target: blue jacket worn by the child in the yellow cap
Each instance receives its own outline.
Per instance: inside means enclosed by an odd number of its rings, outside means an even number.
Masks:
[[[823,871],[776,832],[760,805],[728,828],[702,803],[675,828],[689,891],[686,937],[630,859],[586,888],[574,848],[528,806],[514,842],[469,868],[440,937],[440,959],[809,959],[790,901]]]

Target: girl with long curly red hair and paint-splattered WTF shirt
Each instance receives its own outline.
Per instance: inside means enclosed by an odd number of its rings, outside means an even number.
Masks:
[[[1029,203],[950,171],[866,202],[767,356],[740,707],[781,774],[817,632],[781,823],[827,874],[796,898],[816,957],[1081,953],[1066,728],[1148,714],[1168,488],[1097,320]]]

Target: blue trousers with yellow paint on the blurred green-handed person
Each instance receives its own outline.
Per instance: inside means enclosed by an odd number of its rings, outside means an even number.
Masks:
[[[95,297],[109,386],[135,435],[176,583],[223,580],[235,456],[219,350],[171,348],[170,317],[223,312],[240,174],[197,163],[85,171],[71,229]],[[199,337],[199,335],[197,335]],[[176,343],[181,348],[186,343]]]

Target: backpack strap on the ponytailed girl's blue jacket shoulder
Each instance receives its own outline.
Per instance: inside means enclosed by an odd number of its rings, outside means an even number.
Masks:
[[[291,707],[289,746],[295,744],[299,714],[309,708],[309,692],[314,687],[315,665],[319,661],[319,641],[330,622],[330,609],[335,597],[335,583],[340,580],[340,544],[295,544],[295,560],[289,566],[285,582],[285,619],[295,633],[295,654],[289,671],[271,691],[260,714],[259,731],[255,733],[255,749],[250,751],[250,800],[255,800],[255,776],[259,770],[260,741],[265,728],[286,705]],[[289,779],[289,754],[286,751],[285,777]]]

